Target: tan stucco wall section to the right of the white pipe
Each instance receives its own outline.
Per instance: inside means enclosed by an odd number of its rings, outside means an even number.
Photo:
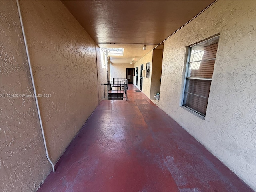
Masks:
[[[96,44],[60,1],[21,1],[46,141],[56,162],[98,105]]]

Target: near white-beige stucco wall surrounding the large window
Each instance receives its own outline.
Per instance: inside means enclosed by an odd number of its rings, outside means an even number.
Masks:
[[[186,46],[220,33],[205,120],[180,107]],[[160,108],[256,190],[256,2],[218,1],[164,43]]]

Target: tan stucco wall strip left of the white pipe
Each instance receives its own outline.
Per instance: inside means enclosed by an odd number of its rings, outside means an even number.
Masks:
[[[32,191],[49,172],[16,1],[0,1],[0,191]],[[6,95],[6,96],[4,96]]]

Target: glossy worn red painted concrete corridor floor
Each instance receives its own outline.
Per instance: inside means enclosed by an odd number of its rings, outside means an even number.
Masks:
[[[252,192],[134,90],[100,103],[38,192]]]

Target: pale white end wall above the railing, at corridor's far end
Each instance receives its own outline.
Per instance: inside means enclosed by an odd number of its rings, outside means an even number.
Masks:
[[[113,78],[126,78],[126,68],[134,68],[133,64],[112,64],[110,65],[110,80]]]

